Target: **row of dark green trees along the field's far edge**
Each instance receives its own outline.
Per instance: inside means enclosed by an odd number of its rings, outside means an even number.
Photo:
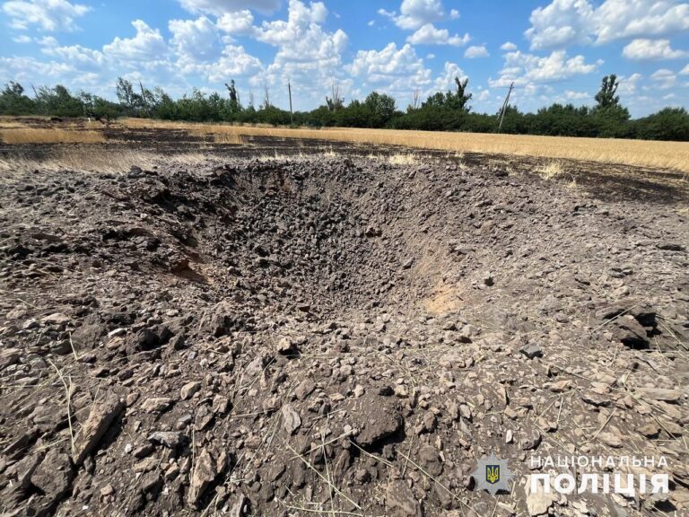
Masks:
[[[385,93],[371,92],[363,100],[345,104],[334,86],[325,104],[311,111],[290,113],[270,101],[266,87],[262,102],[255,105],[253,95],[247,104],[240,101],[234,81],[226,83],[226,94],[206,94],[194,90],[175,100],[160,87],[144,88],[118,78],[117,102],[88,92],[69,92],[65,86],[25,92],[22,84],[10,82],[0,92],[0,115],[46,115],[56,117],[96,116],[101,118],[138,117],[194,122],[231,122],[294,127],[388,127],[428,131],[467,131],[494,133],[498,114],[476,113],[469,102],[468,80],[455,78],[449,92],[436,92],[425,101],[418,93],[406,110],[398,110],[395,100]],[[689,113],[684,108],[665,108],[648,117],[632,119],[616,94],[619,81],[606,75],[597,92],[596,104],[575,107],[554,103],[536,113],[522,112],[516,106],[505,108],[502,133],[515,135],[591,136],[604,138],[642,138],[647,140],[689,141]]]

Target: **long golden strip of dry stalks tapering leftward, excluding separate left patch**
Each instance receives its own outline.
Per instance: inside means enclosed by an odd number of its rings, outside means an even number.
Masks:
[[[445,133],[401,131],[393,129],[324,128],[292,129],[286,127],[240,127],[229,125],[185,124],[126,118],[126,127],[169,127],[176,129],[204,127],[205,132],[242,136],[314,138],[354,144],[406,145],[441,149],[457,153],[498,153],[590,162],[623,163],[689,171],[689,143],[651,142],[605,138],[570,138],[563,136],[493,135],[480,133]]]

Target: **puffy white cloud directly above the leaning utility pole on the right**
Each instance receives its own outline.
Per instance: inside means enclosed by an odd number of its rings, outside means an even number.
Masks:
[[[590,74],[597,70],[602,61],[587,64],[583,56],[567,57],[564,50],[555,50],[547,57],[538,57],[515,51],[505,54],[505,65],[499,79],[489,79],[492,87],[518,86],[536,83],[554,83],[570,79],[576,75]]]

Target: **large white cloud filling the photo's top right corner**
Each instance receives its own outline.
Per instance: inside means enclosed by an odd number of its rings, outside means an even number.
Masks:
[[[538,7],[525,32],[532,49],[603,44],[615,39],[663,36],[689,29],[689,4],[676,0],[553,0]]]

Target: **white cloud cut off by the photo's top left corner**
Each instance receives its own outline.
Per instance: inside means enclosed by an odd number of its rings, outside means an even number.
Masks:
[[[10,17],[13,29],[28,29],[38,25],[43,31],[74,31],[74,19],[91,11],[83,4],[70,4],[66,0],[13,0],[3,4],[3,12]]]

